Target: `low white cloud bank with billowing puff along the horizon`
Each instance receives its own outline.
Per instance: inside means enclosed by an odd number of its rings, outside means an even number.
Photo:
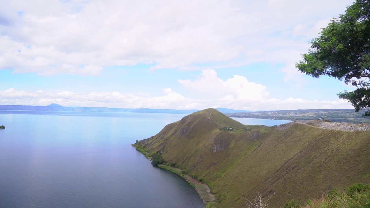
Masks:
[[[138,96],[112,93],[74,93],[71,91],[17,91],[14,88],[0,91],[0,103],[8,105],[48,105],[58,103],[63,106],[115,107],[115,108],[164,108],[195,109],[230,108],[238,110],[296,110],[351,108],[345,100],[305,100],[271,98],[266,87],[252,83],[246,77],[234,75],[226,81],[217,76],[216,71],[203,70],[195,80],[178,80],[191,93],[184,96],[171,88],[163,88],[163,96]],[[199,94],[196,97],[195,94]]]

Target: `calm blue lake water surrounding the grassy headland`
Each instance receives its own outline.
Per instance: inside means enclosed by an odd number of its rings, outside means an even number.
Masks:
[[[131,147],[184,116],[0,111],[6,126],[0,130],[0,207],[202,208],[183,178]]]

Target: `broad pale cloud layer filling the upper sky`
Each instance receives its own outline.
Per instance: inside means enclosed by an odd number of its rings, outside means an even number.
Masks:
[[[0,68],[15,72],[99,74],[106,66],[278,61],[351,0],[3,1]],[[320,5],[319,7],[317,5]],[[324,21],[325,20],[325,21]],[[304,43],[304,44],[303,44]],[[286,48],[290,48],[286,50]],[[240,58],[241,57],[241,58]]]

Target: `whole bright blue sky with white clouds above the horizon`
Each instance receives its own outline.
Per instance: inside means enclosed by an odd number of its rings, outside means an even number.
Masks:
[[[353,0],[1,0],[0,105],[353,108],[295,67]]]

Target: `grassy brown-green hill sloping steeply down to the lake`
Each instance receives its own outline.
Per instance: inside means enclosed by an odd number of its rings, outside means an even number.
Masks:
[[[159,151],[169,164],[206,182],[218,207],[245,207],[242,198],[258,193],[271,196],[270,207],[290,199],[303,204],[333,187],[370,179],[369,131],[296,122],[243,125],[212,108],[168,124],[136,146]]]

